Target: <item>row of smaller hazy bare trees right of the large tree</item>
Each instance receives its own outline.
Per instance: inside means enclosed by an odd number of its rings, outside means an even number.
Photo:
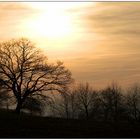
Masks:
[[[50,113],[53,117],[92,119],[97,121],[140,121],[140,86],[123,91],[115,83],[94,90],[89,83],[53,96]]]

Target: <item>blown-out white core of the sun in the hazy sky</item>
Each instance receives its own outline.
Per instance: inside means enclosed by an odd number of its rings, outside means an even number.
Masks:
[[[66,15],[58,13],[44,13],[41,17],[30,23],[31,28],[38,35],[49,38],[63,37],[70,33],[70,19]]]

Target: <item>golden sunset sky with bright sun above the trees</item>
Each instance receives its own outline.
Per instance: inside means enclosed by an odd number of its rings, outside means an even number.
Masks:
[[[0,40],[21,37],[77,82],[140,81],[140,2],[0,2]]]

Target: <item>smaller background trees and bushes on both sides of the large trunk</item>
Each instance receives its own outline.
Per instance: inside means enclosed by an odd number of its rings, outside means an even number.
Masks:
[[[9,109],[15,104],[5,90],[0,92],[1,107]],[[50,92],[44,99],[27,98],[22,107],[30,114],[61,117],[67,119],[89,119],[95,121],[140,121],[140,85],[134,84],[126,90],[112,83],[101,90],[93,89],[89,83],[77,84],[62,93]]]

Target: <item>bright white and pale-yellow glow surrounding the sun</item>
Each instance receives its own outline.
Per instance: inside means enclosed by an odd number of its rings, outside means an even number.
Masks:
[[[85,38],[86,28],[80,23],[88,3],[74,2],[29,2],[25,3],[32,16],[25,17],[21,24],[23,36],[35,40],[37,46],[51,58],[67,56],[75,50],[78,41]],[[80,51],[80,50],[79,50]]]

